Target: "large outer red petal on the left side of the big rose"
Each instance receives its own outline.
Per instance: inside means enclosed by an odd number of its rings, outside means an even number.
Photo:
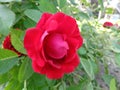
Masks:
[[[41,35],[42,32],[37,28],[28,29],[24,37],[24,47],[32,60],[37,60],[40,66],[44,66],[45,61],[39,55],[39,47],[41,46],[40,44],[42,44],[40,43]]]

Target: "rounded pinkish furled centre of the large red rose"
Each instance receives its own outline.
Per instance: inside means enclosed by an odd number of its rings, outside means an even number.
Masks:
[[[61,34],[50,34],[44,39],[44,51],[53,59],[61,59],[67,54],[69,46]]]

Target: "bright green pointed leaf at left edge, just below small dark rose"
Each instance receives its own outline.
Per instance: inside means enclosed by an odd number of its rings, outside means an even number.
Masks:
[[[18,57],[18,55],[15,52],[0,48],[0,60],[11,59],[14,57]]]

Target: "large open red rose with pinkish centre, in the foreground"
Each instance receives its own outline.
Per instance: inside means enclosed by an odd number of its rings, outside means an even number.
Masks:
[[[27,29],[24,37],[33,70],[50,79],[59,79],[78,66],[77,49],[82,43],[75,19],[61,12],[44,13],[36,27]]]

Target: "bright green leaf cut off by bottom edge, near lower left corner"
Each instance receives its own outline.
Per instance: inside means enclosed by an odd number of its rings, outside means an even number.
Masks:
[[[17,80],[11,80],[4,90],[22,90],[23,85]]]

